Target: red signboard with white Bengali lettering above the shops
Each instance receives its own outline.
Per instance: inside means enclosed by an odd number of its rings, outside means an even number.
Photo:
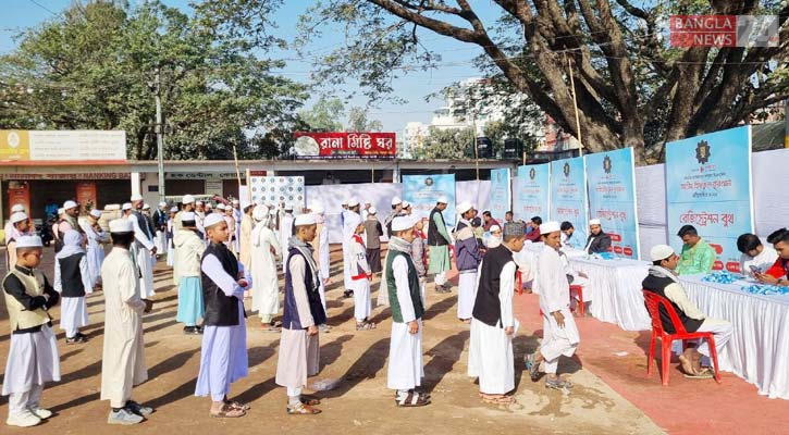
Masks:
[[[300,159],[391,159],[397,152],[394,133],[298,132],[294,137]]]

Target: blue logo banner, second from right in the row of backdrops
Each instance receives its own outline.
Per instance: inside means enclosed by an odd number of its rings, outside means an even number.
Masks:
[[[611,235],[614,253],[639,258],[633,149],[588,154],[589,215]]]

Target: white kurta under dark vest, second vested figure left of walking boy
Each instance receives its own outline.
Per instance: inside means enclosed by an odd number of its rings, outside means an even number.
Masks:
[[[392,273],[397,286],[397,301],[400,306],[403,323],[392,322],[392,339],[389,347],[389,368],[386,387],[391,389],[411,389],[422,384],[422,320],[417,319],[408,287],[408,263],[403,257],[392,262]],[[419,332],[408,332],[408,322],[416,320]]]

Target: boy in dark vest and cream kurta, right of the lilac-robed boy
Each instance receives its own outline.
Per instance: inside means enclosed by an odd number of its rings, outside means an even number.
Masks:
[[[316,236],[312,213],[299,214],[294,221],[295,235],[288,241],[285,264],[285,308],[282,314],[280,358],[276,363],[276,385],[287,388],[287,413],[312,415],[320,400],[301,396],[307,377],[320,369],[318,325],[326,322],[321,304],[320,272],[309,244]]]

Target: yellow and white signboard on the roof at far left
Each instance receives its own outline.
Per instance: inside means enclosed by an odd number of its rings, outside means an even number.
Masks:
[[[0,130],[0,164],[126,162],[123,130]]]

